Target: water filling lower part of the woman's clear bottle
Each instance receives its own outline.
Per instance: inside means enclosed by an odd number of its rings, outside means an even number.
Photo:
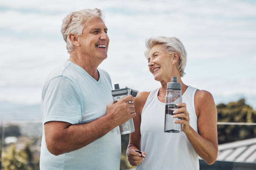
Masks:
[[[181,133],[181,124],[174,123],[175,120],[181,120],[182,118],[173,118],[172,115],[175,115],[173,112],[181,108],[176,104],[166,104],[165,105],[165,127],[164,132],[169,133]],[[180,130],[179,130],[180,129]]]

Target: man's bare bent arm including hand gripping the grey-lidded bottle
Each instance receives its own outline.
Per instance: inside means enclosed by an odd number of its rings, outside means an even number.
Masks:
[[[113,128],[136,116],[129,95],[107,106],[107,113],[87,124],[50,121],[44,124],[46,145],[50,153],[60,155],[82,148],[108,133]]]

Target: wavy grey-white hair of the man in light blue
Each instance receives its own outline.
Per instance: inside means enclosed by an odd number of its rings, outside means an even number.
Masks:
[[[74,50],[74,45],[69,40],[69,34],[82,35],[82,30],[84,29],[83,23],[85,21],[92,20],[93,18],[102,18],[102,13],[100,9],[84,9],[75,11],[68,14],[63,20],[61,25],[61,34],[67,43],[67,52],[70,53]],[[104,21],[103,21],[104,22]]]

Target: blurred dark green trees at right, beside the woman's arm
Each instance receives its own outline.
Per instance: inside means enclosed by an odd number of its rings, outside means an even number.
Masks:
[[[220,103],[217,106],[218,122],[256,122],[256,111],[246,105],[245,99]],[[229,143],[256,137],[256,126],[253,125],[218,125],[218,143]]]

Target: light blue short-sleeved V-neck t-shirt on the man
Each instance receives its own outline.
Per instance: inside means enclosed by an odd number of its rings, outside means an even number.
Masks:
[[[42,92],[43,136],[40,170],[119,170],[121,137],[116,128],[89,145],[58,156],[51,154],[45,142],[44,123],[63,121],[87,123],[106,114],[113,101],[107,72],[97,69],[96,81],[82,67],[66,61],[50,73]]]

